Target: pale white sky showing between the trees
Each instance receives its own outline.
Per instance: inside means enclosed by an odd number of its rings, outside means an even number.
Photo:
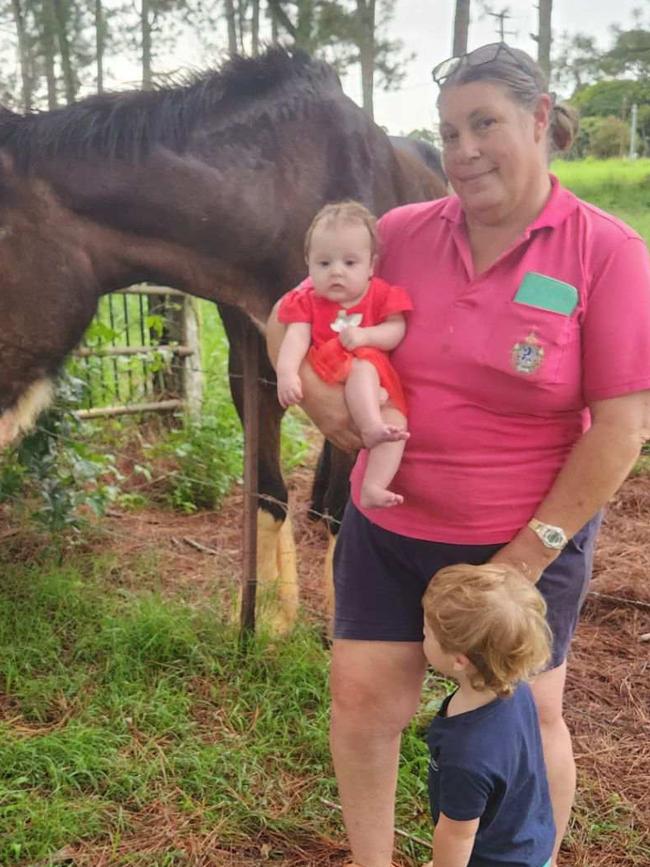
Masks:
[[[506,22],[506,41],[523,48],[533,56],[537,46],[530,38],[537,31],[535,0],[494,0],[494,9],[508,9],[511,17]],[[389,133],[409,133],[414,129],[431,128],[436,121],[435,98],[437,88],[431,80],[431,69],[451,54],[455,0],[395,0],[395,15],[388,30],[391,39],[400,39],[407,54],[415,58],[407,65],[407,75],[398,91],[375,93],[375,120]],[[595,36],[598,44],[608,47],[609,28],[612,24],[632,26],[632,10],[641,7],[648,12],[648,0],[555,0],[553,3],[553,34],[558,37],[563,31],[583,32]],[[498,23],[494,18],[482,15],[479,3],[472,0],[472,16],[469,31],[469,49],[499,39]],[[166,63],[156,63],[156,71],[165,68],[199,69],[210,64],[191,35],[181,39],[176,50]],[[113,88],[133,87],[138,83],[135,65],[120,64],[109,82]],[[348,95],[361,102],[360,75],[358,71],[346,76],[343,82]]]

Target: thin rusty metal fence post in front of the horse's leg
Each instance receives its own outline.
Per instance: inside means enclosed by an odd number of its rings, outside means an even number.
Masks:
[[[240,636],[255,631],[257,594],[257,508],[259,448],[259,334],[246,323],[244,335],[244,545]]]

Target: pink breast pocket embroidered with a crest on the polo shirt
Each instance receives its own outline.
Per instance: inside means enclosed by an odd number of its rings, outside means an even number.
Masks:
[[[572,316],[510,301],[488,329],[481,362],[510,382],[552,386],[566,378],[565,355],[576,329]]]

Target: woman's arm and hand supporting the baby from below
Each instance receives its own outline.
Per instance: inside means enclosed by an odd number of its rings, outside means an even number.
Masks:
[[[277,366],[280,344],[286,326],[278,321],[278,302],[266,324],[266,346],[269,358]],[[347,452],[358,451],[363,444],[354,427],[342,385],[327,385],[317,376],[307,361],[300,367],[303,399],[301,406],[323,435],[337,448]]]

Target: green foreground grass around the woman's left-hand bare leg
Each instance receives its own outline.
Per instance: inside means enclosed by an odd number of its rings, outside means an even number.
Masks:
[[[336,794],[315,630],[242,649],[216,600],[125,594],[79,554],[2,567],[0,863],[108,846],[153,804],[218,828],[221,845],[340,833],[320,800]],[[399,821],[426,837],[425,724],[406,738]]]

